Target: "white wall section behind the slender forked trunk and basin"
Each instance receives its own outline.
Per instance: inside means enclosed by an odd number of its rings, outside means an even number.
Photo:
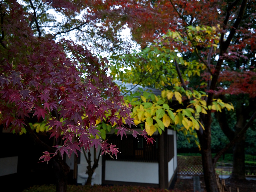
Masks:
[[[81,150],[83,151],[83,150]],[[92,161],[92,166],[93,166],[93,162],[94,162],[94,150],[93,148],[91,148],[91,161]],[[98,153],[97,153],[97,157],[98,157]],[[87,156],[88,157],[88,156]],[[87,170],[87,166],[88,166],[88,163],[86,161],[86,158],[84,157],[84,154],[81,153],[81,156],[80,156],[80,164],[78,164],[78,170],[77,170],[77,183],[78,184],[84,184],[85,183],[85,180],[80,178],[78,176],[79,173],[83,173],[83,172],[86,172]],[[94,184],[96,185],[101,185],[102,184],[102,157],[100,157],[100,160],[99,160],[99,166],[95,169],[95,178],[93,179],[93,182]]]

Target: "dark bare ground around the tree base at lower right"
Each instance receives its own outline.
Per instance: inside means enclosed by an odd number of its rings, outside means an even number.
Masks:
[[[255,177],[254,177],[255,178]],[[200,177],[201,191],[205,192],[205,183],[204,178]],[[230,179],[225,179],[226,187],[229,190],[231,187],[232,192],[237,192],[239,188],[240,192],[256,192],[256,180],[246,180],[244,182],[233,182]],[[175,187],[175,190],[181,190],[186,192],[193,192],[193,179],[181,179],[178,178]]]

